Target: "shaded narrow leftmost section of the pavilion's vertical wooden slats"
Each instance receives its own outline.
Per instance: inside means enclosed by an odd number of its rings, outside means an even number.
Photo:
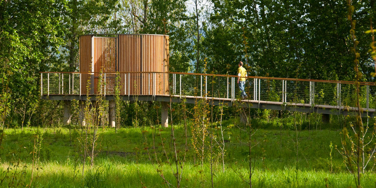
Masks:
[[[90,35],[80,36],[80,72],[91,71],[91,37]],[[89,74],[81,74],[81,94],[86,94],[89,77]]]

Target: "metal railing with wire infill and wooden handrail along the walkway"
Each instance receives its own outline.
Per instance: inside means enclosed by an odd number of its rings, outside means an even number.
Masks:
[[[41,73],[41,95],[83,95],[93,73]],[[98,73],[104,80],[104,94],[114,95],[116,77],[120,77],[121,95],[173,95],[175,97],[240,98],[237,76],[195,73],[121,72]],[[92,82],[92,80],[91,80]],[[91,83],[87,83],[91,84]],[[95,82],[97,84],[97,82]],[[165,84],[166,86],[161,86]],[[91,84],[93,85],[93,84]],[[162,91],[163,90],[163,91]],[[360,83],[362,108],[376,108],[376,84]],[[92,91],[91,91],[92,92]],[[310,106],[355,107],[355,82],[338,80],[248,77],[245,92],[253,102],[299,103]],[[92,92],[92,94],[94,94]]]

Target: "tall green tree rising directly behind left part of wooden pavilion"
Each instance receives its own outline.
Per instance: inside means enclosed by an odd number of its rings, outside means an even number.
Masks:
[[[117,0],[61,0],[64,6],[62,25],[65,27],[66,44],[64,53],[67,54],[68,71],[75,71],[78,64],[79,36],[94,33],[117,33],[120,21],[115,19],[119,9]]]

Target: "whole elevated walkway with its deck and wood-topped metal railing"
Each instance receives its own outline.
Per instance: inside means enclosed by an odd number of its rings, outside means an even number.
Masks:
[[[46,100],[96,100],[98,86],[93,73],[41,73],[41,98]],[[241,105],[246,108],[355,115],[355,82],[340,80],[247,77],[247,99],[239,99],[237,76],[164,72],[96,73],[102,80],[105,100],[115,100],[118,85],[121,100],[186,102],[207,100],[211,105]],[[118,79],[116,79],[118,78]],[[120,81],[117,81],[120,80]],[[98,83],[98,81],[96,82]],[[376,84],[359,83],[362,116],[376,111]],[[184,100],[183,100],[184,99]]]

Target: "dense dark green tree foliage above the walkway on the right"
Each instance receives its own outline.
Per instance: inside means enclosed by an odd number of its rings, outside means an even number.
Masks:
[[[232,65],[245,59],[242,29],[247,31],[249,75],[272,77],[353,80],[353,58],[349,53],[347,8],[343,1],[267,1],[212,0],[210,27],[205,31],[205,55],[209,65]],[[374,2],[355,2],[357,39],[370,41],[370,18]],[[369,42],[359,43],[360,70],[371,80],[373,64],[367,55]],[[217,66],[220,65],[220,66]],[[211,70],[211,69],[210,69]],[[218,70],[222,71],[222,70]]]

